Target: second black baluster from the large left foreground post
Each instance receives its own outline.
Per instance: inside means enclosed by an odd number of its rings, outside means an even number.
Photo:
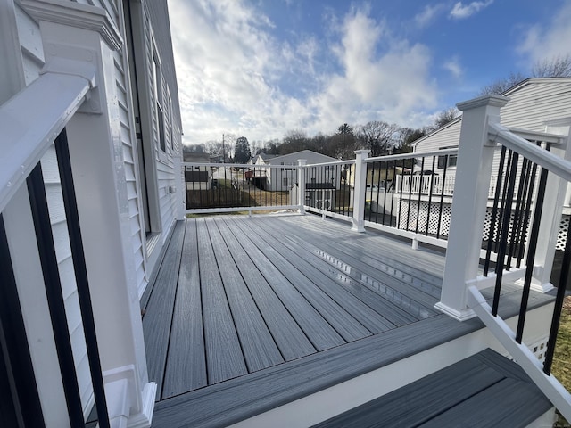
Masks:
[[[62,284],[57,266],[54,248],[54,236],[47,208],[46,189],[42,168],[38,163],[27,179],[29,204],[36,229],[37,249],[39,251],[46,297],[50,309],[50,317],[54,328],[55,348],[62,372],[63,391],[68,407],[70,424],[73,427],[83,426],[83,410],[79,394],[78,377],[75,371],[73,351],[71,350],[70,332],[68,330],[65,303],[62,295]]]

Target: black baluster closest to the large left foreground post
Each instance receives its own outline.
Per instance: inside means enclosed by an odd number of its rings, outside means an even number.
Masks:
[[[67,218],[68,233],[70,235],[71,257],[73,259],[75,279],[78,287],[79,309],[83,321],[95,407],[97,408],[99,426],[101,428],[109,428],[110,424],[105,400],[101,360],[99,358],[97,335],[95,333],[93,305],[89,292],[87,265],[79,226],[78,202],[75,197],[75,185],[73,184],[73,176],[71,174],[70,150],[65,128],[55,139],[55,152],[57,154],[58,169],[62,180],[63,205],[65,208],[65,217]]]

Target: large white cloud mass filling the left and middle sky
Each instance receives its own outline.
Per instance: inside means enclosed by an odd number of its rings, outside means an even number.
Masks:
[[[330,17],[338,23],[331,45],[311,34],[277,40],[274,24],[246,2],[169,6],[185,144],[222,133],[268,141],[373,119],[420,126],[423,111],[436,108],[429,50],[393,37],[368,9]]]

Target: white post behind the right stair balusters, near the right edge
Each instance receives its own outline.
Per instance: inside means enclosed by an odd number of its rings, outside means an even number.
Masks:
[[[571,145],[571,137],[569,137],[570,125],[571,119],[567,118],[555,126],[548,125],[545,129],[545,132],[550,134],[567,136],[567,140],[563,146],[556,145],[550,150],[553,154],[567,161],[571,161],[571,150],[569,148],[569,145]],[[559,178],[555,174],[550,174],[547,179],[547,185],[545,186],[543,210],[541,213],[542,222],[539,228],[539,235],[542,236],[542,239],[538,240],[537,246],[535,247],[532,289],[538,292],[549,292],[553,288],[553,284],[550,283],[551,268],[553,267],[553,259],[555,259],[555,247],[557,245],[559,223],[561,221],[566,192],[567,181]],[[533,221],[533,219],[531,221]]]

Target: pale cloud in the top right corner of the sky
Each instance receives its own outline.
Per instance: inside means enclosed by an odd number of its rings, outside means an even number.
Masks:
[[[571,1],[567,0],[553,19],[545,25],[534,25],[526,31],[524,42],[517,51],[531,62],[550,60],[571,54]]]

